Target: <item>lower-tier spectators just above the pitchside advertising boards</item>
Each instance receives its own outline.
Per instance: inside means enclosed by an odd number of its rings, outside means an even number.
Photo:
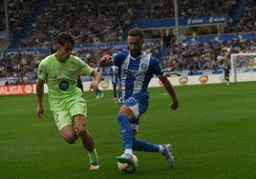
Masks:
[[[93,67],[102,54],[114,54],[117,50],[76,50],[74,53]],[[143,50],[158,56],[160,44],[147,44],[143,46]],[[192,40],[181,45],[173,44],[161,58],[161,64],[166,72],[190,71],[192,74],[198,70],[222,70],[224,59],[230,59],[232,53],[242,52],[256,53],[256,38],[250,41],[242,39],[204,43]],[[0,59],[0,78],[19,78],[20,83],[34,83],[37,66],[46,55],[36,53],[2,58]],[[106,71],[103,70],[103,75],[106,75]]]

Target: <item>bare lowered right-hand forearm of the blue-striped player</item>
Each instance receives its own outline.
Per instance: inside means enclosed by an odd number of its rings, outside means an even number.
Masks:
[[[178,107],[179,107],[178,98],[176,96],[175,90],[174,90],[171,82],[169,81],[169,79],[166,76],[160,76],[159,78],[160,78],[162,85],[168,91],[169,95],[171,96],[171,98],[173,100],[173,102],[170,104],[170,108],[173,110],[178,109]]]

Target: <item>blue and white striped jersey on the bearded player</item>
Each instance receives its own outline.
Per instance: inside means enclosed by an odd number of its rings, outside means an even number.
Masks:
[[[124,99],[134,93],[148,95],[147,88],[153,75],[164,75],[160,61],[145,52],[135,59],[129,50],[118,51],[113,55],[113,62],[118,67]]]

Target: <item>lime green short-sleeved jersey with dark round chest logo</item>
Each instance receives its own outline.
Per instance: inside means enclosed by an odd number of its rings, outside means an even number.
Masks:
[[[65,109],[73,99],[82,95],[76,88],[80,74],[90,75],[93,69],[75,55],[64,62],[55,58],[55,54],[44,58],[37,70],[37,76],[46,81],[49,89],[49,103],[52,110]]]

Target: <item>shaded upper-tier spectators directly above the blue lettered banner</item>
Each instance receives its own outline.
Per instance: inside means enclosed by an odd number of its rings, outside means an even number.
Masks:
[[[231,16],[237,0],[179,0],[179,17],[203,17],[227,14]],[[174,18],[174,2],[170,0],[153,0],[151,8],[147,10],[144,20]]]

